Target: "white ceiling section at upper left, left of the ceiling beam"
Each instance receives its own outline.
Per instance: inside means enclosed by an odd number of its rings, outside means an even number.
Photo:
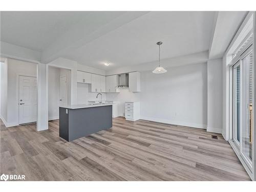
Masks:
[[[42,51],[61,34],[82,23],[92,13],[90,11],[2,11],[1,41]]]

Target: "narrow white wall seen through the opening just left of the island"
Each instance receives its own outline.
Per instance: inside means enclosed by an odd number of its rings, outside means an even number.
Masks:
[[[49,67],[48,71],[48,118],[59,118],[59,75],[60,69]]]

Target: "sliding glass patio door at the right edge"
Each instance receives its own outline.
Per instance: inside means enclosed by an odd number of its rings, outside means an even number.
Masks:
[[[252,46],[241,53],[233,71],[233,138],[241,157],[252,168],[253,68]]]

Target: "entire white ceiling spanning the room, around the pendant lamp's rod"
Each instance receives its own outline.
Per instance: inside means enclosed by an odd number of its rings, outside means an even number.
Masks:
[[[215,12],[1,12],[1,41],[110,70],[209,49]],[[106,67],[104,62],[110,62]]]

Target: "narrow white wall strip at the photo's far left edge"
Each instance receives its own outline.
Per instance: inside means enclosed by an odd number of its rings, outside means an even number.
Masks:
[[[1,118],[7,123],[8,60],[1,63]]]

